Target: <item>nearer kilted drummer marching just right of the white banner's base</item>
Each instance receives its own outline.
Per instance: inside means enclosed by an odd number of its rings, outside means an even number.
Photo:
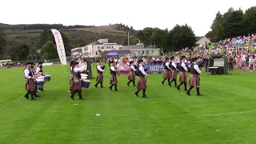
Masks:
[[[72,82],[72,86],[71,86],[71,96],[70,98],[72,98],[74,100],[74,94],[78,93],[79,99],[83,99],[82,98],[82,80],[81,80],[81,72],[85,70],[85,67],[83,66],[79,66],[79,62],[74,62],[74,69],[72,70],[73,74],[74,74],[74,78],[73,78],[73,82]]]

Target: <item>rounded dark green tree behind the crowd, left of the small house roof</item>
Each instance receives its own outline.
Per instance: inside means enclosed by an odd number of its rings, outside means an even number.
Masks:
[[[167,39],[169,45],[169,51],[180,50],[182,48],[195,46],[196,36],[190,26],[187,25],[176,25],[170,30]]]

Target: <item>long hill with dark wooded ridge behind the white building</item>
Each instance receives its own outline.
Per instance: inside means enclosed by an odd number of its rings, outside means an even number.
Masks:
[[[122,24],[110,26],[63,26],[62,24],[34,24],[34,25],[8,25],[0,23],[6,34],[6,56],[9,58],[11,51],[21,43],[26,43],[34,49],[41,49],[40,34],[45,29],[58,29],[66,34],[69,39],[70,48],[86,46],[90,42],[97,41],[101,38],[109,39],[109,42],[117,42],[120,45],[126,45],[127,31],[135,34],[135,30]],[[138,38],[130,36],[130,44],[136,44]],[[70,55],[67,53],[67,55]]]

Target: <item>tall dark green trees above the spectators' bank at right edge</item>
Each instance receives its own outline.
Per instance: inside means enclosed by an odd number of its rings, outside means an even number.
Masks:
[[[234,38],[240,35],[256,33],[256,6],[243,11],[230,8],[226,13],[216,14],[211,25],[211,30],[206,34],[212,42],[225,38]]]

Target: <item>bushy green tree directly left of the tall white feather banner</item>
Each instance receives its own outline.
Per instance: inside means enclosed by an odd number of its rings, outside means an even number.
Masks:
[[[58,58],[58,52],[54,46],[54,42],[47,41],[44,46],[42,46],[43,58]]]

